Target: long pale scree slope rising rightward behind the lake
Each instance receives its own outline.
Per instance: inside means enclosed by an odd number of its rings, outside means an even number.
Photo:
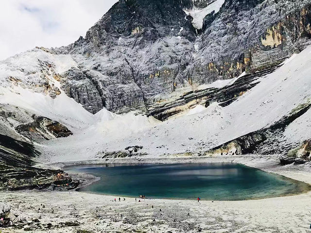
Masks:
[[[146,116],[111,115],[104,111],[98,123],[65,139],[47,144],[52,161],[74,161],[101,157],[105,151],[142,146],[151,155],[184,152],[202,153],[246,133],[270,126],[300,104],[311,100],[311,47],[296,54],[275,72],[227,107],[217,103],[197,107],[166,122]],[[101,113],[103,114],[103,113]],[[311,138],[311,110],[285,131],[293,144]],[[66,156],[64,156],[64,154]]]

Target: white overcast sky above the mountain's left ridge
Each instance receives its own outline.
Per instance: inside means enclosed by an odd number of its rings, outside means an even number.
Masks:
[[[0,60],[76,41],[118,0],[0,0]]]

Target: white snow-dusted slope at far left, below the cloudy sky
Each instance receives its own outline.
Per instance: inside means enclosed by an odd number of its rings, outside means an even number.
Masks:
[[[57,120],[73,130],[90,126],[95,117],[69,98],[58,82],[59,75],[75,66],[70,55],[42,49],[0,62],[0,103]]]

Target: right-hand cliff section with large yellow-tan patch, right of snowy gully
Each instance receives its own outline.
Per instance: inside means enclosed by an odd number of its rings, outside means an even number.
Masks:
[[[194,82],[275,67],[305,49],[310,7],[310,1],[226,0],[219,13],[205,18],[199,47],[204,62],[191,67]]]

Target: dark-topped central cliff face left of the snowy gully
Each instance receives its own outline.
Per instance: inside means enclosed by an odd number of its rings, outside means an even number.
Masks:
[[[186,0],[119,1],[65,48],[81,68],[63,76],[62,88],[92,113],[146,110],[146,100],[172,93],[178,77],[183,83],[196,40],[183,11],[190,7]]]

